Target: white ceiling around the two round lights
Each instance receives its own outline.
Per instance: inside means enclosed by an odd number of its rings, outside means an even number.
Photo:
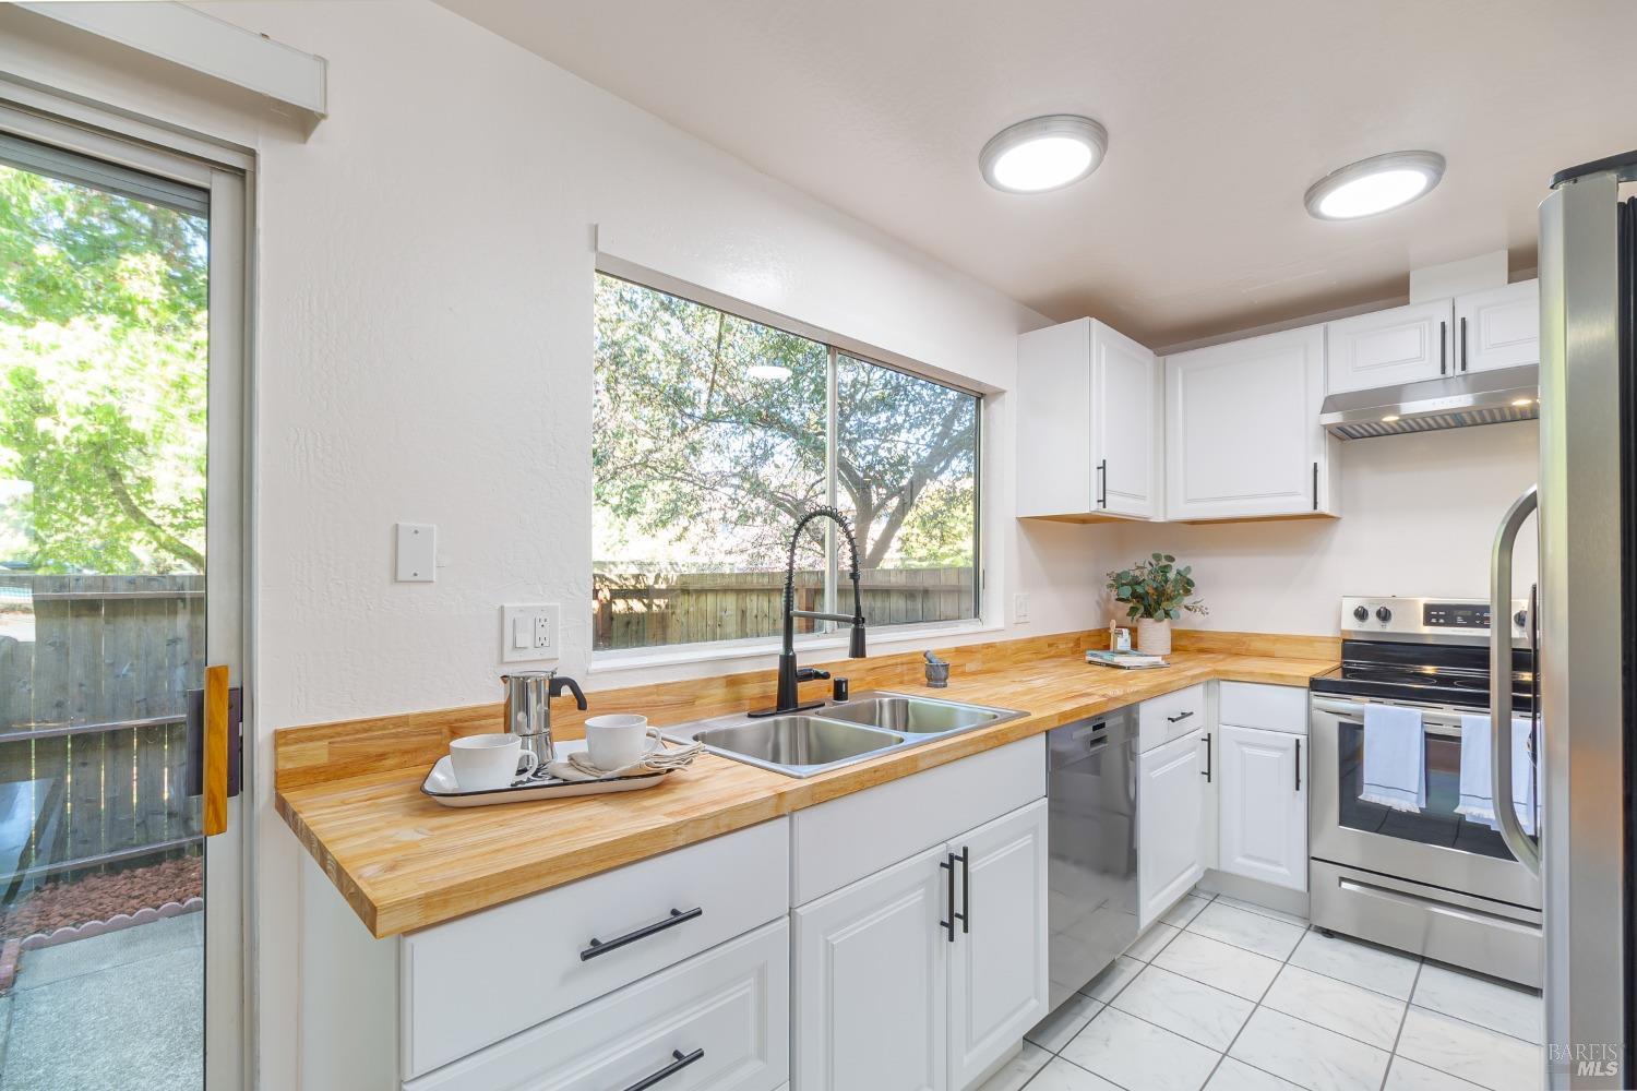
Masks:
[[[1151,345],[1401,296],[1411,267],[1534,265],[1557,168],[1637,147],[1632,0],[442,0],[1054,317]],[[1044,113],[1108,126],[1048,195],[977,152]],[[1355,159],[1449,160],[1355,222],[1301,196]]]

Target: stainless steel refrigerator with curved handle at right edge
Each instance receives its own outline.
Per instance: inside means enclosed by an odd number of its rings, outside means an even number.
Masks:
[[[1539,502],[1539,839],[1509,805],[1506,641],[1491,649],[1491,787],[1513,854],[1544,878],[1549,1088],[1637,1088],[1637,200],[1621,200],[1632,180],[1637,152],[1583,164],[1540,204],[1540,476],[1491,558],[1491,617],[1506,617],[1511,546]]]

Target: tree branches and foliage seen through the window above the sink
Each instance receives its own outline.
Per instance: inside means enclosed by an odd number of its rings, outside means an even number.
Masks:
[[[791,525],[827,501],[828,348],[612,276],[596,324],[596,558],[782,568]],[[755,373],[769,365],[787,376]],[[837,386],[859,564],[971,564],[976,399],[846,357]]]

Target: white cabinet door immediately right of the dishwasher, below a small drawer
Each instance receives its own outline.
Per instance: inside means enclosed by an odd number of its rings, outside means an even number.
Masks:
[[[1205,873],[1205,731],[1138,759],[1138,927],[1146,929]]]

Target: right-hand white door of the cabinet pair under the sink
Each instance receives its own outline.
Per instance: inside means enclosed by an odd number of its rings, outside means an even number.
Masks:
[[[1048,1012],[1046,800],[949,851],[966,918],[949,945],[949,1086],[966,1088]]]

